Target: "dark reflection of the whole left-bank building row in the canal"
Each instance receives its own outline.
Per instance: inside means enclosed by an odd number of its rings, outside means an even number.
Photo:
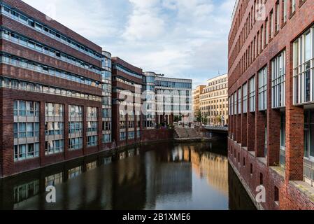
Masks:
[[[191,146],[158,146],[94,155],[0,180],[0,209],[154,209],[160,200],[190,200]],[[50,185],[57,190],[55,204],[45,202]]]

